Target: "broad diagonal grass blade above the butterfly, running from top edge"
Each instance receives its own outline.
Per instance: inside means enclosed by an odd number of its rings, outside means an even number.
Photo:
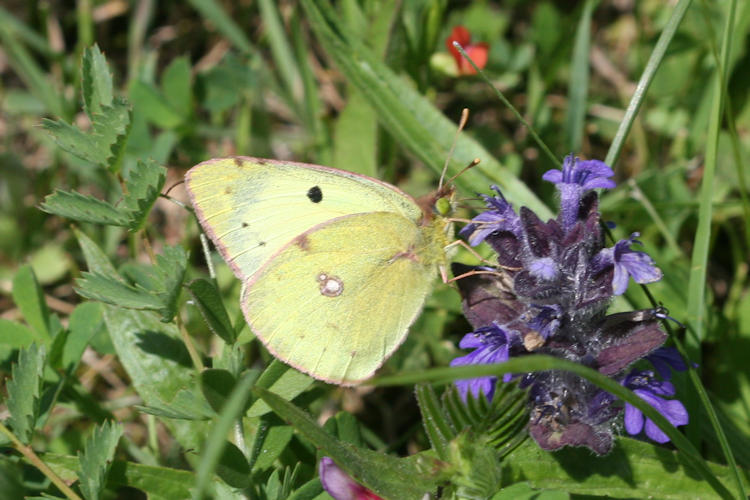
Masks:
[[[303,0],[302,6],[326,53],[375,108],[388,132],[433,171],[441,172],[456,135],[457,120],[446,118],[427,98],[378,61],[337,22],[328,2]],[[490,184],[497,184],[509,201],[531,208],[543,219],[551,217],[549,208],[525,184],[466,133],[458,136],[448,175],[457,173],[475,158],[481,163],[460,176],[457,184],[472,192],[485,191]]]

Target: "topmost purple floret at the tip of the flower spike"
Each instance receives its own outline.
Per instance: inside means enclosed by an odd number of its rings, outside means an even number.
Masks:
[[[583,195],[596,188],[611,189],[615,181],[609,179],[615,173],[603,161],[581,161],[573,155],[563,160],[562,170],[547,170],[542,179],[557,184],[560,191],[560,221],[568,230],[578,220],[578,208]]]

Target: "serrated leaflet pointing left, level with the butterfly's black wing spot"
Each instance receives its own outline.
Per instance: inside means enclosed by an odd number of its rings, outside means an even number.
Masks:
[[[47,213],[79,222],[128,226],[127,215],[111,204],[75,191],[55,190],[54,193],[44,199],[41,209]]]

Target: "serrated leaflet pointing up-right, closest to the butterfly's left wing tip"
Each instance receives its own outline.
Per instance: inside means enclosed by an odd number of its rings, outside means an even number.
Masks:
[[[166,179],[166,169],[153,160],[139,160],[128,172],[125,178],[127,194],[123,199],[123,206],[128,212],[128,227],[131,230],[143,227]]]

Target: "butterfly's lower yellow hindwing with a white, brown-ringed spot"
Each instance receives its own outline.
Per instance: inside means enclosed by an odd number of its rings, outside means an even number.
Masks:
[[[246,284],[245,318],[295,368],[343,385],[364,380],[404,341],[432,289],[444,252],[426,231],[374,212],[302,233]]]

